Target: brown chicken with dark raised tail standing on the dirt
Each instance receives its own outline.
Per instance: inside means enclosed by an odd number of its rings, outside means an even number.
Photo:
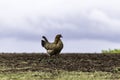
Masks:
[[[47,53],[52,55],[58,55],[63,49],[63,42],[60,38],[62,38],[61,34],[56,35],[53,43],[50,43],[45,36],[42,36],[44,40],[41,40],[41,45],[47,50]]]

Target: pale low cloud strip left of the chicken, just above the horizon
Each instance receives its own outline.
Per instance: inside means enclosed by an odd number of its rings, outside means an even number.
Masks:
[[[13,38],[0,39],[0,52],[44,52],[39,42],[21,41]]]

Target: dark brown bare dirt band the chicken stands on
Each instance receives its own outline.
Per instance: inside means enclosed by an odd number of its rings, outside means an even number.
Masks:
[[[60,54],[49,57],[42,53],[1,53],[0,72],[16,71],[105,71],[120,68],[120,54]]]

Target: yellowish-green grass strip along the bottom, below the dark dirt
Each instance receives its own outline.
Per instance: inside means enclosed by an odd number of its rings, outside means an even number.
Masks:
[[[110,72],[4,72],[0,73],[0,80],[120,80],[118,73]]]

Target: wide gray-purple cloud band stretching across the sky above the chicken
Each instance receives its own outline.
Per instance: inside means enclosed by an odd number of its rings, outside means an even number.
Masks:
[[[64,19],[39,17],[35,23],[31,19],[27,19],[27,23],[31,24],[27,30],[24,27],[17,29],[6,27],[1,30],[0,38],[13,37],[20,40],[39,41],[42,35],[55,36],[61,33],[66,39],[101,39],[119,42],[120,32],[110,29],[108,24],[100,21],[93,21],[88,17],[75,15],[67,16]],[[24,24],[23,24],[24,25]],[[103,29],[102,29],[103,28]],[[30,30],[29,30],[30,29]],[[43,31],[41,33],[41,31]],[[119,30],[119,28],[118,28]]]

